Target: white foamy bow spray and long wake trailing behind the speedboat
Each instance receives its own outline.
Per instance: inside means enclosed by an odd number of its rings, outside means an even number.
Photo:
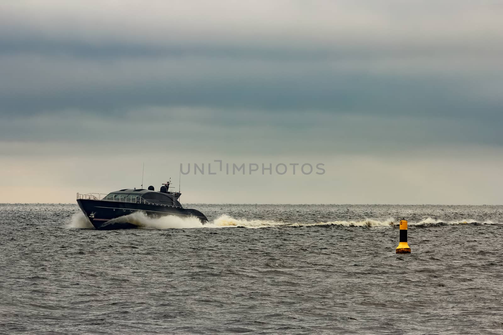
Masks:
[[[386,219],[363,219],[354,221],[327,221],[327,222],[283,222],[274,220],[259,220],[259,219],[237,219],[229,215],[220,215],[213,221],[207,224],[202,224],[196,217],[180,217],[175,215],[161,216],[151,218],[141,212],[135,212],[129,215],[121,216],[112,220],[113,222],[129,222],[143,229],[190,229],[190,228],[281,228],[281,227],[313,227],[313,226],[342,226],[342,227],[367,227],[367,228],[392,228],[399,225],[399,220],[394,218]],[[466,225],[466,224],[488,224],[493,225],[498,222],[485,220],[478,222],[473,219],[460,220],[442,220],[427,217],[421,221],[409,221],[410,226],[441,226],[441,225]],[[75,213],[72,216],[69,228],[93,229],[93,225],[89,219],[81,212]]]

